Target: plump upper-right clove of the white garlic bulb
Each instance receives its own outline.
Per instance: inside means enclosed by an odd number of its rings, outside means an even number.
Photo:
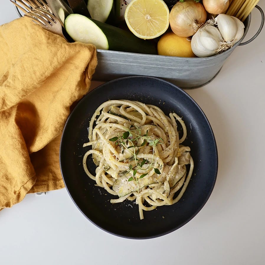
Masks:
[[[217,22],[217,27],[220,30],[224,40],[226,42],[233,41],[237,32],[237,24],[235,20],[226,14],[219,14],[215,21]]]

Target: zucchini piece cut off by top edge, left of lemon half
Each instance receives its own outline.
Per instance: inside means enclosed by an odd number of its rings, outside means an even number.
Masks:
[[[114,15],[114,2],[113,0],[89,0],[87,9],[91,18],[106,22],[109,17]]]

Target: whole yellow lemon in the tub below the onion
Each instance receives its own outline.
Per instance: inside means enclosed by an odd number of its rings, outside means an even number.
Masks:
[[[168,32],[160,38],[157,51],[159,55],[196,57],[192,52],[191,40],[187,37],[180,37],[174,32]]]

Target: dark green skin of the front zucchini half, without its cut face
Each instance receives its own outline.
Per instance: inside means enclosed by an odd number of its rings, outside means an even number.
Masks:
[[[91,19],[91,18],[89,18]],[[106,35],[109,42],[109,50],[116,50],[130,53],[157,54],[156,43],[150,40],[143,40],[133,33],[122,30],[118,27],[91,19]]]

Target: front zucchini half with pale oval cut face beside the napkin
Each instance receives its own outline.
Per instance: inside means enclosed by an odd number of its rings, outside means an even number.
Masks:
[[[155,42],[139,39],[131,32],[80,14],[70,14],[64,23],[74,41],[94,44],[97,49],[157,54]]]

